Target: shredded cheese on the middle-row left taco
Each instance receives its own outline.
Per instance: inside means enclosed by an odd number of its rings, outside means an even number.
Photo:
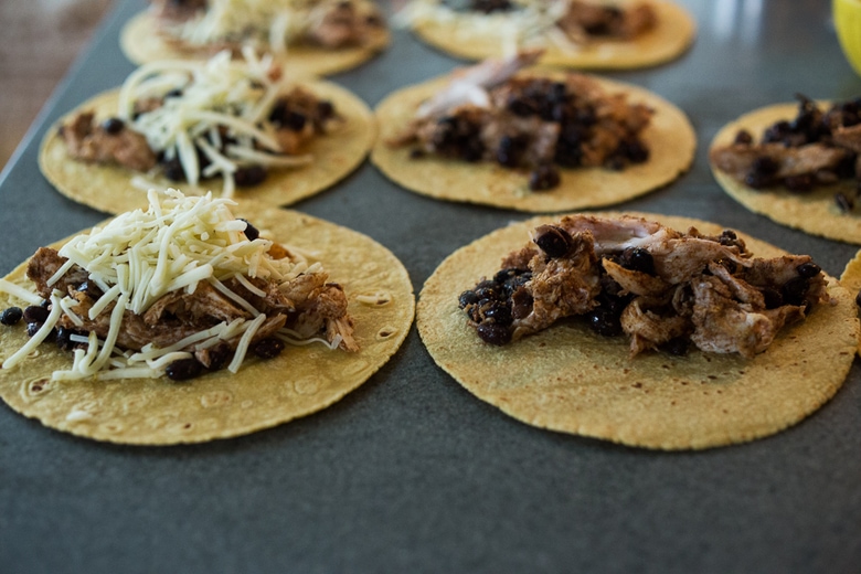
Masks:
[[[285,168],[312,159],[284,155],[268,121],[287,81],[270,78],[269,56],[258,59],[251,49],[243,55],[233,61],[224,51],[206,62],[152,62],[134,72],[119,92],[117,115],[142,134],[153,151],[163,152],[167,160],[179,158],[191,185],[201,177],[222,177],[222,194],[227,198],[241,167]],[[177,95],[164,97],[169,93]],[[135,118],[136,102],[162,97],[162,105]],[[231,142],[223,146],[225,137]],[[210,161],[202,171],[195,148]]]

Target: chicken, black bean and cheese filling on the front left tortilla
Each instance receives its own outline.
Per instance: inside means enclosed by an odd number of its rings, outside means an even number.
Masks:
[[[149,209],[125,213],[60,249],[41,247],[26,275],[31,302],[2,312],[30,340],[2,363],[49,340],[73,353],[54,380],[191,379],[285,344],[319,341],[358,350],[347,297],[319,263],[235,219],[224,199],[149,192]]]

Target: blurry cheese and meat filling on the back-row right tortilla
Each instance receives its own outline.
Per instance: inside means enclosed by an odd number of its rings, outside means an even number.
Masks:
[[[647,2],[616,6],[594,0],[414,0],[402,18],[411,23],[457,19],[476,32],[500,33],[513,45],[567,51],[596,40],[634,40],[657,23]]]

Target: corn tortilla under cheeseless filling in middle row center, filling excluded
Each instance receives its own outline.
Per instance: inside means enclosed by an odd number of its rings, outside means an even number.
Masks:
[[[546,71],[530,74],[563,76]],[[440,91],[448,79],[448,76],[439,77],[397,91],[374,110],[380,138],[371,151],[371,161],[396,183],[424,195],[527,212],[598,208],[621,203],[666,185],[687,171],[693,161],[697,135],[683,111],[646,89],[603,78],[596,79],[607,92],[625,92],[629,103],[641,103],[655,110],[642,135],[649,159],[627,166],[623,171],[560,169],[562,181],[557,188],[532,192],[525,170],[431,155],[411,158],[410,146],[392,147],[389,141],[406,130],[418,105]]]

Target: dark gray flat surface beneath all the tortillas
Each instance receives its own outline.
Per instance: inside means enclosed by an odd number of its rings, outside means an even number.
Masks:
[[[706,147],[752,108],[861,93],[829,2],[690,0],[699,33],[670,64],[607,74],[690,116],[693,169],[625,209],[712,220],[809,253],[839,275],[857,247],[748,213],[712,179]],[[36,166],[47,125],[121,83],[118,2],[0,177],[0,274],[105,215]],[[459,62],[395,31],[334,76],[369,104]],[[416,293],[457,247],[525,214],[443,203],[370,163],[295,209],[391,248]],[[627,448],[532,428],[439,370],[415,331],[347,398],[230,440],[139,448],[76,438],[0,406],[0,571],[859,572],[861,369],[799,425],[702,453]]]

